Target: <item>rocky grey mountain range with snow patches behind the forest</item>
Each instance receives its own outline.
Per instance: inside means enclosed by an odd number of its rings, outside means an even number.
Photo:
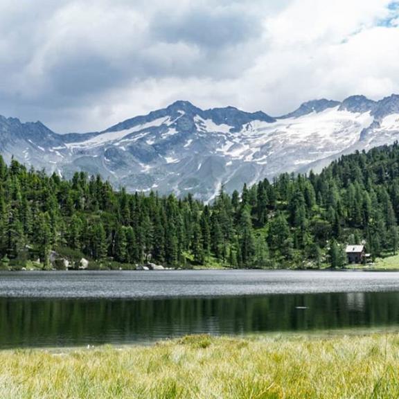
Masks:
[[[281,172],[319,170],[341,154],[399,140],[399,96],[312,100],[273,118],[177,101],[103,132],[56,134],[0,117],[0,152],[71,177],[84,170],[128,190],[212,199]]]

